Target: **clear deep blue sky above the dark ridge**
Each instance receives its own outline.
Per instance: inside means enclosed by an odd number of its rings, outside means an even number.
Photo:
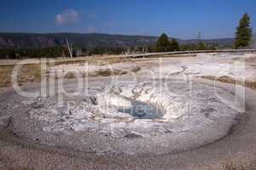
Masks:
[[[0,31],[233,37],[245,12],[256,27],[255,0],[0,0]]]

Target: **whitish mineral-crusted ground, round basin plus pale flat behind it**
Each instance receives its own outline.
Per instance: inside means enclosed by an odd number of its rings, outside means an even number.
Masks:
[[[192,150],[224,138],[244,115],[242,101],[234,101],[235,86],[220,88],[195,77],[253,82],[255,57],[198,54],[136,64],[58,65],[49,72],[89,71],[83,76],[88,83],[77,94],[78,82],[70,80],[64,81],[66,93],[55,85],[55,92],[46,96],[3,94],[0,125],[20,139],[96,155]]]

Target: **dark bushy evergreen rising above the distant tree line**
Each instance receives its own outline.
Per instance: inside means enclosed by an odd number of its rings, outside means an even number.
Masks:
[[[168,52],[171,51],[171,42],[169,41],[168,36],[164,33],[160,36],[158,41],[155,44],[156,52]]]

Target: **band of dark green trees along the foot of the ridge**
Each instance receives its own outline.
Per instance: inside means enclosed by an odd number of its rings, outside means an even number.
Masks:
[[[179,44],[177,40],[170,40],[166,34],[162,34],[159,40],[152,46],[131,46],[131,47],[73,47],[73,57],[90,56],[95,54],[143,54],[156,52],[172,52],[185,50],[215,49],[218,44]],[[24,59],[24,58],[57,58],[70,57],[67,46],[55,46],[49,48],[1,48],[0,59]]]

